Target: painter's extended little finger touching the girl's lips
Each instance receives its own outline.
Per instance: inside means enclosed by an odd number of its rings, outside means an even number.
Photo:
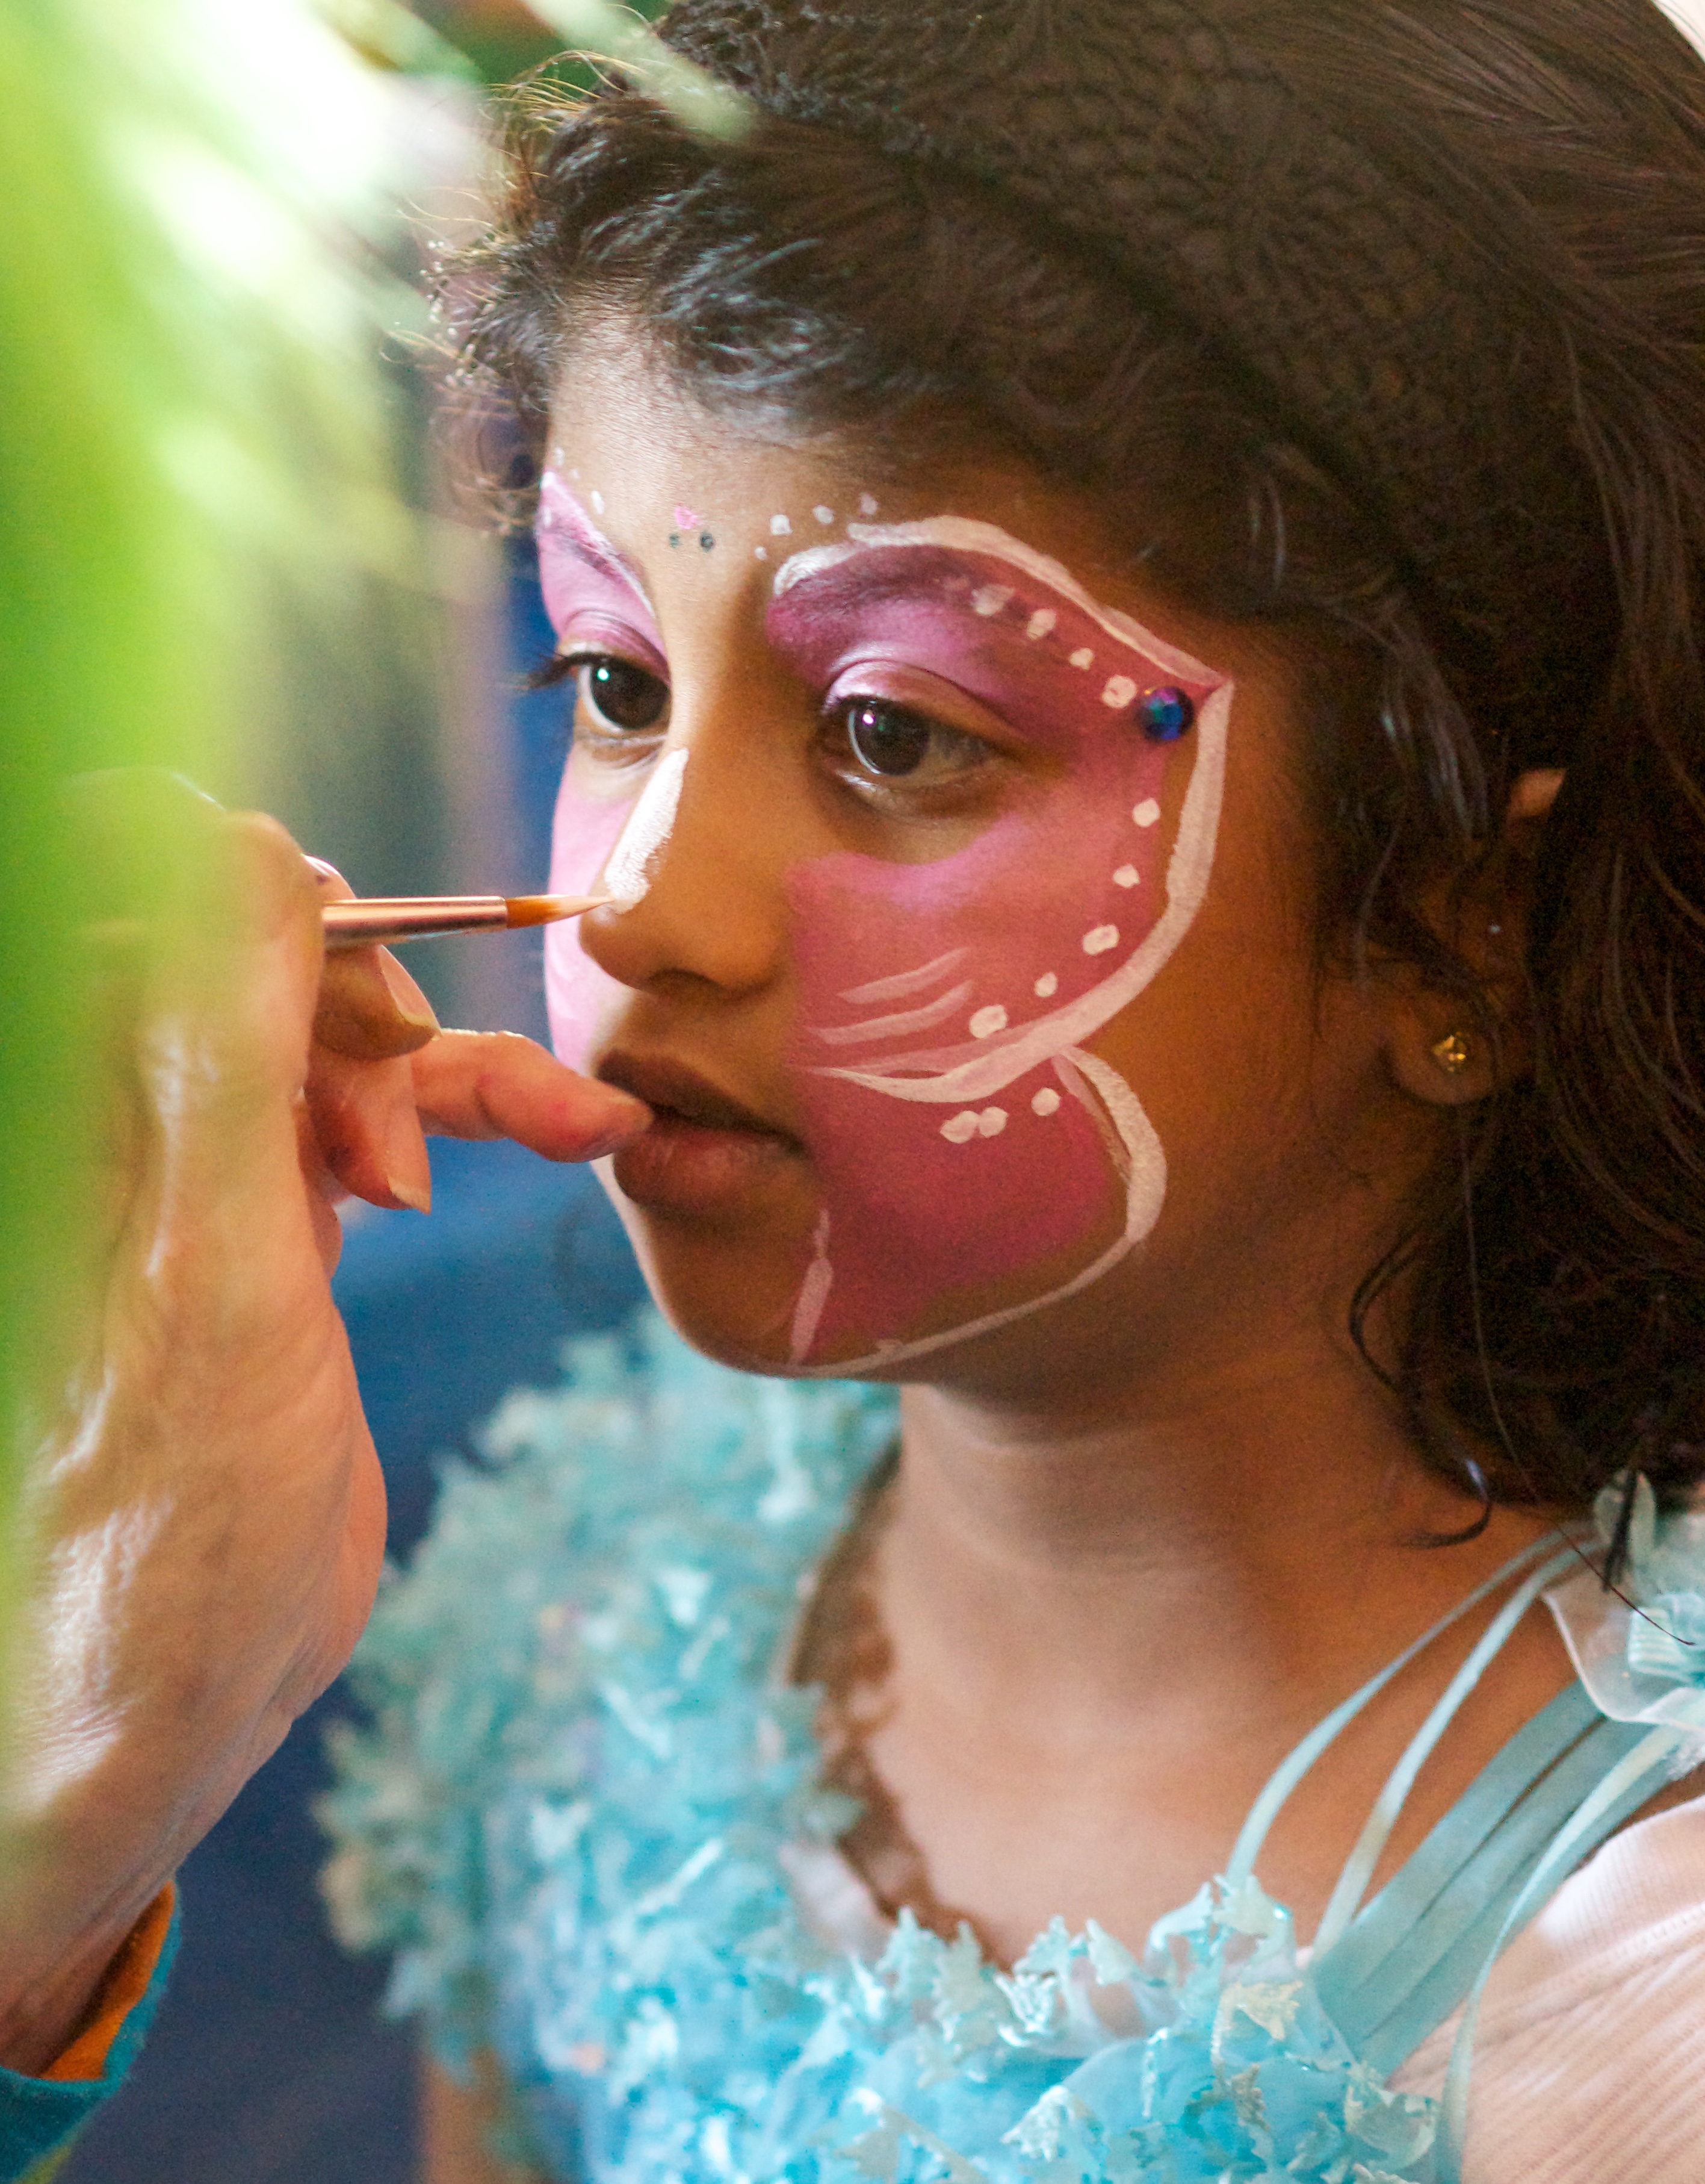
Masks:
[[[415,1101],[441,1138],[515,1138],[546,1160],[598,1160],[651,1125],[651,1107],[576,1077],[515,1031],[441,1031],[413,1059]]]

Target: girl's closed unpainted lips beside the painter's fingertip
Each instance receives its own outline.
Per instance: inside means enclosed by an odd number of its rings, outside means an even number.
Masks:
[[[598,1077],[653,1109],[651,1129],[616,1155],[616,1182],[635,1206],[664,1214],[731,1212],[766,1177],[803,1158],[797,1138],[683,1061],[611,1053]]]

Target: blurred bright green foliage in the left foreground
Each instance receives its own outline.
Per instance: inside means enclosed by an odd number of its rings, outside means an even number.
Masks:
[[[61,782],[240,784],[303,703],[284,631],[351,649],[415,581],[360,242],[378,92],[301,0],[0,0],[0,1601],[96,1232],[79,922],[96,889],[153,917],[201,854],[151,826],[96,871]]]

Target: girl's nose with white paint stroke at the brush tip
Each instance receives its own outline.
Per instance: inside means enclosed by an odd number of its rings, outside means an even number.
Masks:
[[[581,919],[581,946],[640,992],[747,996],[786,961],[786,791],[751,736],[670,738],[605,867],[616,902]]]

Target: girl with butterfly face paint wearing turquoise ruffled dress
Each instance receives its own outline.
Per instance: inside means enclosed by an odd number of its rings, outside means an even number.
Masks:
[[[666,35],[744,124],[535,105],[454,288],[611,895],[555,1040],[670,1321],[897,1441],[659,1339],[452,1487],[332,1874],[430,2173],[1679,2184],[1698,61]]]

